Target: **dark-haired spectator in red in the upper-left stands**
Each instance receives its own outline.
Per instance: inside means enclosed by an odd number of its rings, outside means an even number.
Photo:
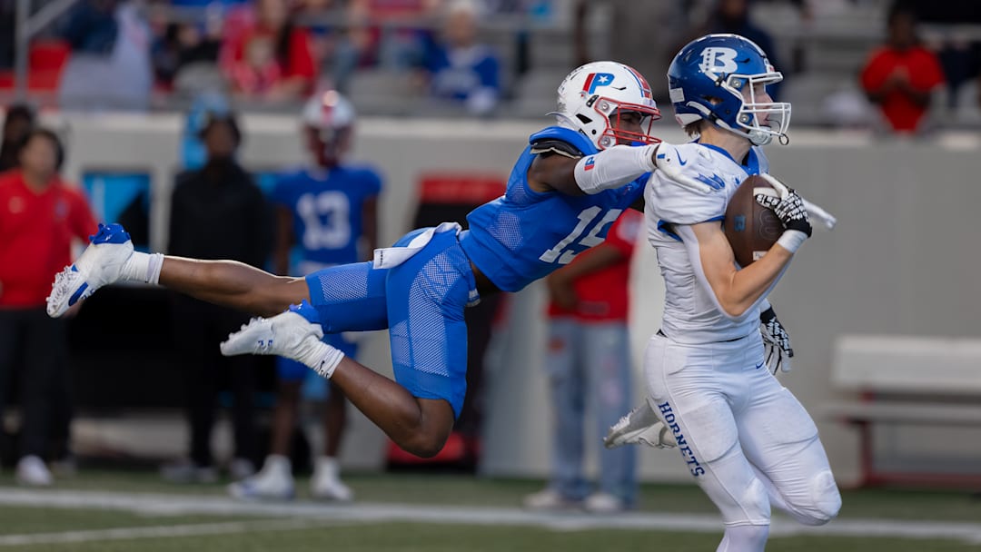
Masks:
[[[221,53],[233,92],[273,101],[311,93],[317,67],[310,35],[293,24],[285,0],[256,0],[254,18],[237,25],[226,33]]]

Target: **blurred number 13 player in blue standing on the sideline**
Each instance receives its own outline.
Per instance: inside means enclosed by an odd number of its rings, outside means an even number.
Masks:
[[[290,249],[298,246],[296,266],[303,275],[337,265],[356,263],[378,245],[378,195],[382,178],[373,169],[342,163],[350,149],[354,107],[331,90],[311,98],[303,110],[303,134],[314,165],[281,176],[273,189],[279,219],[276,272],[289,274]],[[362,242],[362,243],[359,243]],[[324,341],[354,358],[357,344],[343,334],[327,334]],[[299,412],[301,391],[317,395],[325,381],[306,366],[278,358],[280,379],[270,455],[253,477],[232,483],[237,498],[288,499],[294,495],[289,461],[293,427]],[[310,377],[308,377],[310,376]],[[344,395],[331,384],[324,405],[324,451],[314,461],[310,494],[314,498],[348,501],[351,489],[340,480],[337,453],[345,422]]]

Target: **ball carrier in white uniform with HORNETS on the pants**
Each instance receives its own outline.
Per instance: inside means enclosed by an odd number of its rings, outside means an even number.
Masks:
[[[645,376],[648,407],[667,429],[650,438],[673,438],[718,506],[725,523],[719,551],[763,550],[771,506],[811,526],[826,524],[841,508],[817,427],[763,368],[760,311],[770,310],[766,295],[811,233],[800,195],[766,175],[758,147],[774,137],[786,142],[791,106],[766,92],[781,79],[742,36],[711,34],[685,46],[668,81],[676,119],[698,139],[679,147],[678,161],[709,160],[714,173],[696,177],[714,189],[693,193],[654,174],[645,191],[648,240],[666,288]],[[721,221],[740,183],[756,174],[777,190],[758,193],[756,201],[786,229],[765,256],[741,269]],[[779,326],[766,317],[763,323],[764,332]]]

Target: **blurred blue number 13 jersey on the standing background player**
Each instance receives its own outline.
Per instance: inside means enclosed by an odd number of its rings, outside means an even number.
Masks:
[[[293,213],[302,259],[321,265],[356,263],[364,232],[362,208],[382,190],[382,178],[364,167],[303,170],[281,176],[272,199]]]

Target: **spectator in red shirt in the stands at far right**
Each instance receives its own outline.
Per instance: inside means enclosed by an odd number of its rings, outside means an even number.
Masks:
[[[892,129],[921,129],[930,99],[944,83],[940,61],[916,36],[916,13],[897,3],[890,9],[886,44],[873,51],[861,71],[861,85]]]

